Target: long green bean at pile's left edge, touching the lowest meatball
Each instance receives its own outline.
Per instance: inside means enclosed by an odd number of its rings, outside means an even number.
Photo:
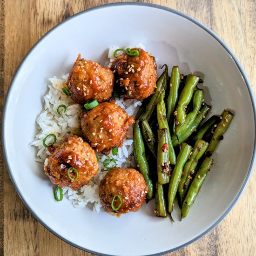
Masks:
[[[135,160],[148,186],[147,197],[148,199],[151,199],[153,196],[153,183],[149,174],[148,161],[145,155],[145,147],[144,147],[144,142],[141,134],[139,121],[135,121],[133,139],[134,139],[134,146],[135,146],[135,152],[134,152]]]

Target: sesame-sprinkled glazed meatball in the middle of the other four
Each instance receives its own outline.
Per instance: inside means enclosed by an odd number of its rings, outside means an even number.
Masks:
[[[131,124],[125,110],[115,101],[100,103],[97,107],[81,113],[81,128],[85,138],[97,152],[108,153],[111,148],[121,146]]]

